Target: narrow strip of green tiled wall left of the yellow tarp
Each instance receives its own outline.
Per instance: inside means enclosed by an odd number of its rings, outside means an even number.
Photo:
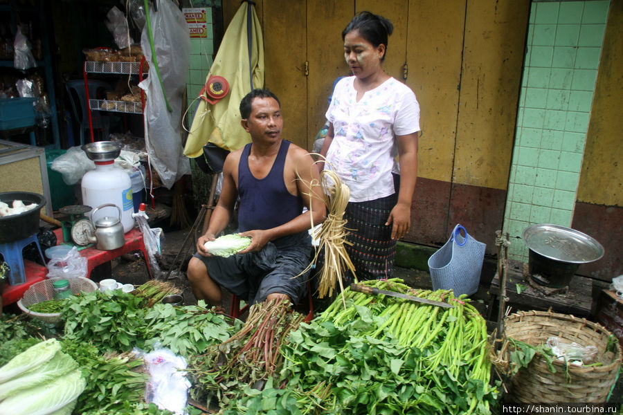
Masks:
[[[197,107],[197,97],[206,84],[206,76],[214,60],[214,24],[211,8],[207,9],[206,26],[208,36],[204,38],[190,38],[190,67],[188,68],[188,83],[186,84],[186,105],[188,107],[186,122],[188,127],[190,127],[192,116]]]

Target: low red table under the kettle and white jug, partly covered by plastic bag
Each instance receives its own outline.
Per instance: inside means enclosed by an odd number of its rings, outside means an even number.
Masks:
[[[60,245],[63,243],[62,228],[54,230],[54,234],[57,238],[57,243]],[[145,266],[147,268],[147,274],[152,278],[152,270],[150,268],[149,260],[147,259],[147,250],[145,248],[145,241],[143,239],[143,232],[138,228],[133,228],[125,234],[125,245],[115,250],[98,250],[93,246],[80,250],[80,255],[87,258],[87,278],[91,277],[91,271],[98,265],[105,264],[112,259],[116,259],[121,255],[125,255],[129,252],[140,250],[143,252],[143,259],[145,259]],[[2,304],[13,304],[19,300],[28,287],[31,285],[43,281],[46,278],[48,269],[44,266],[36,264],[33,261],[24,260],[24,273],[26,274],[26,282],[15,286],[5,286],[2,293]]]

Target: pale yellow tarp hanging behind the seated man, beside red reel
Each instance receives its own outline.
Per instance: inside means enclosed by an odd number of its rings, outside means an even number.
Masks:
[[[222,77],[228,93],[219,100],[210,97],[210,78]],[[240,100],[251,88],[264,86],[262,29],[253,4],[243,1],[225,31],[221,46],[201,91],[184,154],[197,158],[210,142],[226,150],[237,150],[251,141],[240,126]],[[211,103],[208,101],[214,101]]]

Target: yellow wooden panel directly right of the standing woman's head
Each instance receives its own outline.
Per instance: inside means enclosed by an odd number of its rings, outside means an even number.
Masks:
[[[418,176],[452,179],[465,0],[410,1],[406,84],[420,109]]]

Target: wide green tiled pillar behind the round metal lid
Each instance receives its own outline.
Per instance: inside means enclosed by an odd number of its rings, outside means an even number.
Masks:
[[[513,259],[527,261],[527,226],[571,225],[609,6],[532,2],[504,219]]]

